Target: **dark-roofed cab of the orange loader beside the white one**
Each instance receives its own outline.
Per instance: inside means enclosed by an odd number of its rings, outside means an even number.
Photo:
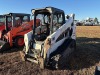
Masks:
[[[9,31],[12,27],[19,27],[23,22],[30,21],[30,14],[9,13],[5,14],[5,30]]]

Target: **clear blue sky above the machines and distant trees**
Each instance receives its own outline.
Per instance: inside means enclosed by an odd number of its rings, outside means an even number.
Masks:
[[[77,20],[97,17],[100,21],[100,0],[0,0],[0,14],[29,13],[31,9],[53,6],[74,13]]]

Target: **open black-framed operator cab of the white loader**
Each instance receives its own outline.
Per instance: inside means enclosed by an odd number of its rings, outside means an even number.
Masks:
[[[32,9],[32,14],[34,15],[33,38],[36,41],[44,41],[65,23],[64,11],[54,7]],[[36,26],[36,19],[40,19],[39,26]]]

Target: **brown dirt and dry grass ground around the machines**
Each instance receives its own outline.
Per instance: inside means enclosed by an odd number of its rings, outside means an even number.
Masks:
[[[77,50],[67,70],[41,70],[36,64],[21,61],[18,50],[0,53],[0,75],[94,75],[95,66],[100,65],[100,26],[77,27]]]

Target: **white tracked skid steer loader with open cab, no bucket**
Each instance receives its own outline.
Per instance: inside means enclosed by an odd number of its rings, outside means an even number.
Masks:
[[[20,52],[22,60],[40,65],[40,68],[63,69],[66,60],[76,48],[74,14],[67,16],[54,7],[32,9],[33,30],[24,35],[25,47]],[[40,19],[40,26],[36,26]]]

